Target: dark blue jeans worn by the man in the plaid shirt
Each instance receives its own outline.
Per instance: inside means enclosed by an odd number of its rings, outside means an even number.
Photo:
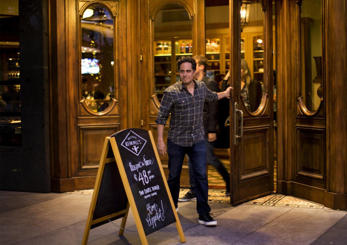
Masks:
[[[175,205],[178,202],[179,180],[185,154],[188,155],[194,172],[196,210],[199,215],[209,213],[211,208],[207,203],[209,185],[206,175],[206,145],[205,141],[192,146],[179,146],[168,139],[169,179],[168,185]]]

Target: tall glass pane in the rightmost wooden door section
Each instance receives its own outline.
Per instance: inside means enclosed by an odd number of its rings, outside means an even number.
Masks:
[[[301,94],[309,111],[315,111],[322,91],[322,2],[302,1],[300,7]]]

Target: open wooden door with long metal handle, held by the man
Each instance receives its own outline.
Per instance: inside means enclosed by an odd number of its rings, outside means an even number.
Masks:
[[[253,9],[261,11],[260,16],[263,18],[262,40],[260,37],[258,40],[260,44],[263,43],[263,48],[253,49],[253,52],[256,51],[254,53],[262,53],[262,58],[253,54],[246,63],[262,61],[263,67],[252,74],[252,77],[255,75],[256,79],[260,79],[258,77],[262,73],[261,101],[256,99],[259,96],[259,84],[256,81],[249,83],[248,92],[241,91],[243,84],[240,82],[240,70],[245,66],[240,61],[240,1],[232,1],[230,6],[230,20],[238,20],[230,21],[230,74],[231,86],[234,87],[230,100],[231,204],[239,204],[273,191],[272,2],[253,1],[252,5]],[[254,94],[254,91],[258,92]]]

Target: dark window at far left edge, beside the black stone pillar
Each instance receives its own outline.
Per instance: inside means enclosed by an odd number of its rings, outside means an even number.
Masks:
[[[0,145],[21,146],[18,1],[1,6]]]

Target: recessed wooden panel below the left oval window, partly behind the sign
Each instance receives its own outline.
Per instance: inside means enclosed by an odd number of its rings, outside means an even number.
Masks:
[[[79,170],[98,169],[104,139],[118,129],[119,125],[79,127]]]

